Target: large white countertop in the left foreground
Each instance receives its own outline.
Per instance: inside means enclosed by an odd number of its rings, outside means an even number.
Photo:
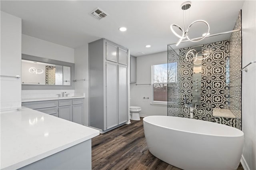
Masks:
[[[98,136],[99,130],[26,107],[1,112],[1,169],[18,169]]]

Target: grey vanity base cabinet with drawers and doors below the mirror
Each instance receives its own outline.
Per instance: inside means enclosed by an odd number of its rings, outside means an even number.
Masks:
[[[22,102],[22,106],[82,125],[84,99]]]

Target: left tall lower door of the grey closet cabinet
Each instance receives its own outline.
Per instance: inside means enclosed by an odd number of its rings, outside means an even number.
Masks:
[[[118,66],[106,62],[106,125],[107,129],[118,125]]]

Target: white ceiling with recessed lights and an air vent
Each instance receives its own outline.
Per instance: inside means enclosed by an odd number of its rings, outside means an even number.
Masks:
[[[22,18],[22,33],[67,47],[80,47],[86,43],[106,38],[128,47],[134,56],[167,50],[167,44],[178,41],[170,25],[183,25],[184,1],[11,1],[1,0],[1,11]],[[210,33],[216,34],[233,30],[244,1],[192,1],[190,23],[206,20]],[[94,8],[101,8],[109,14],[102,20],[90,16]],[[190,24],[189,23],[189,24]],[[126,32],[119,27],[125,26]],[[190,37],[200,37],[205,27],[195,25]],[[201,29],[200,29],[201,28]],[[202,29],[204,28],[204,29]],[[227,40],[230,34],[206,38],[193,43],[181,43],[174,49]],[[150,48],[145,45],[150,44]]]

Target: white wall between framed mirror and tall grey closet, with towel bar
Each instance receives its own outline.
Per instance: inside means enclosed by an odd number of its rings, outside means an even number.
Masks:
[[[86,81],[75,82],[75,93],[84,93],[84,117],[83,124],[89,125],[89,65],[88,44],[75,49],[75,79],[86,79]]]

